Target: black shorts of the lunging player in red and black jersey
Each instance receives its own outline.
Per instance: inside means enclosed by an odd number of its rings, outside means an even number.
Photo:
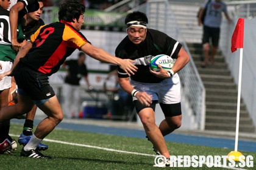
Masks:
[[[18,89],[23,89],[31,100],[44,100],[55,95],[48,76],[31,70],[23,63],[19,63],[16,67],[14,78]]]

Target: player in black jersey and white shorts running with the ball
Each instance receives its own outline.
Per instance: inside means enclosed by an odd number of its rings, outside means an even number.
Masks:
[[[138,116],[148,139],[154,145],[154,150],[169,158],[163,137],[181,126],[180,80],[177,72],[190,61],[190,56],[175,39],[158,30],[148,29],[148,18],[144,13],[129,13],[125,23],[128,35],[116,47],[115,55],[135,60],[138,70],[135,75],[129,76],[119,67],[119,84],[133,96]],[[149,69],[151,56],[160,54],[176,59],[169,72],[160,66],[159,72]],[[165,115],[165,120],[159,127],[155,124],[157,103],[160,103]]]

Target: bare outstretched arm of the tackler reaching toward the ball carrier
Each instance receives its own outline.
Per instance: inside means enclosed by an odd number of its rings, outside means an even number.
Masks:
[[[120,66],[128,75],[134,75],[134,72],[137,72],[138,68],[132,64],[134,62],[133,60],[122,60],[121,58],[110,55],[102,49],[92,46],[90,43],[84,44],[81,50],[96,60]]]

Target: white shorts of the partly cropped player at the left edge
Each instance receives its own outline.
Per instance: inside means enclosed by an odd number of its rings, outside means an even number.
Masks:
[[[8,72],[12,68],[12,62],[10,61],[0,61],[0,63],[2,65],[2,69],[0,69],[0,74],[4,72]],[[12,84],[12,77],[5,76],[0,81],[0,90],[9,89],[11,87],[11,84]]]

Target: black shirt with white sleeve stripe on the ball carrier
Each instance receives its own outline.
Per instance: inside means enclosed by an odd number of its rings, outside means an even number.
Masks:
[[[156,56],[160,54],[169,55],[172,58],[177,58],[177,55],[182,47],[182,44],[172,39],[168,35],[158,30],[148,29],[146,38],[140,44],[133,44],[126,36],[123,41],[116,47],[115,55],[122,59],[131,59],[136,62],[138,67],[135,75],[131,75],[130,79],[141,83],[159,83],[164,80],[155,77],[149,72],[149,62],[144,62],[144,56]],[[171,55],[172,54],[172,55]],[[118,67],[118,77],[127,78],[126,72]]]

